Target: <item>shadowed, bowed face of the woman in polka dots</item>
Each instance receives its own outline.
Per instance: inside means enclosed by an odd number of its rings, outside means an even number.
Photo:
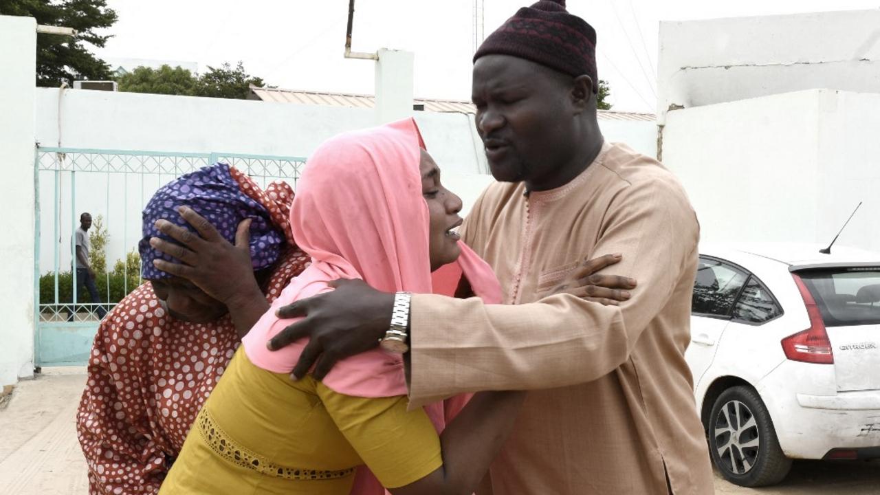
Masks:
[[[228,312],[226,306],[180,277],[150,280],[153,292],[175,320],[209,323]]]

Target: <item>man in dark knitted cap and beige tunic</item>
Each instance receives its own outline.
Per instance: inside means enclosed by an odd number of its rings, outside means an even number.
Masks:
[[[480,495],[713,492],[684,358],[700,228],[664,166],[602,137],[595,49],[593,28],[557,0],[520,9],[474,55],[476,125],[499,182],[460,233],[506,304],[414,294],[409,307],[412,406],[531,390]],[[542,297],[609,253],[639,284],[619,306]],[[312,336],[294,373],[320,356],[323,376],[354,342],[384,335],[393,300],[340,284],[282,310],[320,317],[273,345]]]

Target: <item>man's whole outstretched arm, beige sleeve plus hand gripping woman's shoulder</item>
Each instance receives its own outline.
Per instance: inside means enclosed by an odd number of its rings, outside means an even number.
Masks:
[[[677,185],[665,182],[627,188],[606,218],[593,253],[623,253],[614,270],[639,283],[633,297],[619,307],[570,294],[518,306],[414,296],[414,403],[475,390],[562,387],[596,380],[620,366],[695,262],[699,227]],[[320,299],[282,308],[282,317],[307,318],[276,336],[269,347],[310,336],[294,374],[303,376],[316,363],[314,374],[320,379],[339,358],[376,345],[388,328],[392,306],[393,294],[363,283],[341,284]]]

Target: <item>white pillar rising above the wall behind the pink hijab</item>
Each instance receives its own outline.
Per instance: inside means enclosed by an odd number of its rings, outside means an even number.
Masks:
[[[413,115],[414,54],[382,48],[376,62],[376,121],[398,121]]]

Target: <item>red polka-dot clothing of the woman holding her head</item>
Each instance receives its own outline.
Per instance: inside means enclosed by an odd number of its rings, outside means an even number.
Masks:
[[[293,191],[282,182],[262,191],[238,170],[231,168],[231,174],[289,240],[268,280],[271,303],[309,262],[290,236]],[[174,320],[149,283],[107,314],[95,336],[77,413],[90,494],[158,492],[238,344],[228,314],[209,324]]]

